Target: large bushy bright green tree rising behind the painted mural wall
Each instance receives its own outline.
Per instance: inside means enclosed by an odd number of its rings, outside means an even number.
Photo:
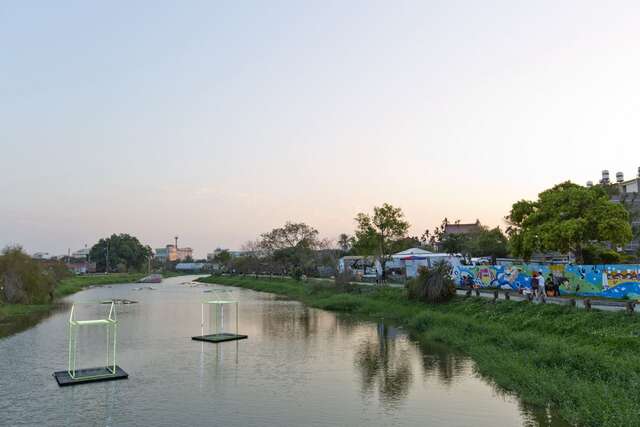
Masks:
[[[600,186],[563,182],[543,191],[538,200],[520,200],[506,217],[509,245],[516,256],[534,251],[573,252],[583,262],[591,243],[623,245],[631,240],[629,213],[613,203]]]

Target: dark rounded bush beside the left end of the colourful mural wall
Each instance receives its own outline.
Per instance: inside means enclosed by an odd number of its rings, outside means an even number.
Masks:
[[[406,288],[409,299],[427,303],[445,302],[456,294],[451,266],[444,261],[432,268],[421,268],[418,276],[407,282]]]

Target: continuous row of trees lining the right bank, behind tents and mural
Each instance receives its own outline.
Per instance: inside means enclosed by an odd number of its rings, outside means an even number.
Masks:
[[[409,235],[410,224],[402,209],[384,203],[372,212],[358,213],[352,235],[343,233],[335,243],[321,240],[318,231],[303,222],[287,222],[263,233],[231,257],[222,251],[214,259],[224,269],[240,273],[269,272],[316,275],[323,266],[335,266],[345,255],[372,256],[382,270],[391,254],[420,247],[465,258],[512,256],[528,261],[535,253],[573,254],[578,263],[632,261],[618,250],[637,233],[631,227],[634,212],[610,200],[605,186],[583,187],[564,182],[543,191],[537,200],[520,200],[505,217],[507,228],[477,223],[468,233],[447,233],[459,224],[445,218],[433,230]]]

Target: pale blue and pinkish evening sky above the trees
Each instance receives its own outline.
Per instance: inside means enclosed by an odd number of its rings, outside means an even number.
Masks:
[[[640,167],[637,1],[0,2],[0,246],[504,226]]]

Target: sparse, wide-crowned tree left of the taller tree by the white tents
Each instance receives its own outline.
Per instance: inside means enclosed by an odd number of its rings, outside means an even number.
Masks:
[[[325,243],[315,228],[303,222],[287,222],[284,227],[261,234],[259,247],[294,277],[300,277],[312,270],[314,251],[325,247]]]

